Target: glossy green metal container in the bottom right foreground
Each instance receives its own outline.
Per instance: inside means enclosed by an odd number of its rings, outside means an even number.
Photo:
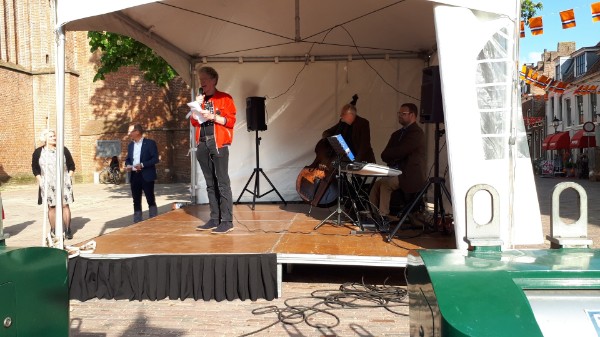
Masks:
[[[600,336],[600,251],[418,250],[411,336]]]

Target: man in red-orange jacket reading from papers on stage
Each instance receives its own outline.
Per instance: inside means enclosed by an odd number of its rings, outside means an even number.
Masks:
[[[196,230],[225,234],[233,230],[233,197],[229,179],[229,146],[235,125],[235,104],[231,95],[217,90],[219,74],[211,67],[199,70],[202,111],[192,114],[196,128],[196,158],[206,180],[210,220]]]

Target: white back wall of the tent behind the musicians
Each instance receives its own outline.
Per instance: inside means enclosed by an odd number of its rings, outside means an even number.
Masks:
[[[256,134],[248,132],[246,124],[249,96],[267,97],[267,130],[259,132],[260,166],[286,201],[299,200],[295,189],[298,173],[314,160],[316,142],[325,129],[337,123],[341,106],[349,103],[354,94],[359,96],[359,115],[371,123],[371,144],[377,160],[381,160],[379,154],[390,134],[400,127],[396,115],[400,104],[419,103],[415,98],[420,95],[421,69],[425,63],[417,59],[368,62],[370,66],[364,60],[317,61],[306,66],[299,62],[207,64],[219,72],[217,87],[230,93],[236,103],[237,123],[229,162],[236,199],[256,167]],[[289,91],[275,98],[292,85],[303,67]],[[198,168],[199,181],[203,180],[201,176]],[[254,180],[248,188],[253,190],[253,187]],[[261,193],[270,189],[262,176],[260,189]],[[201,188],[198,193],[200,200],[204,200],[205,191]],[[241,199],[251,200],[248,192]],[[260,199],[277,200],[274,192]]]

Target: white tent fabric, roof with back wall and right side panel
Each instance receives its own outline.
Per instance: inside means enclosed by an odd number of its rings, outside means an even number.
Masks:
[[[519,4],[517,0],[56,1],[58,27],[66,30],[110,31],[131,36],[155,50],[193,88],[194,70],[198,66],[206,63],[219,71],[218,88],[232,94],[238,109],[238,123],[230,151],[234,197],[242,191],[255,165],[255,135],[246,132],[242,113],[245,98],[267,97],[268,130],[261,133],[264,138],[260,147],[261,167],[287,200],[298,200],[294,188],[298,172],[312,161],[314,144],[321,132],[337,122],[339,108],[350,101],[355,93],[360,97],[357,104],[359,114],[371,122],[372,144],[378,159],[389,135],[399,127],[395,111],[404,102],[419,105],[421,71],[430,63],[437,63],[438,57],[442,81],[456,90],[473,88],[472,95],[465,97],[474,100],[464,103],[477,109],[479,89],[476,86],[479,84],[475,77],[480,74],[475,72],[475,68],[469,67],[477,67],[482,62],[477,57],[479,51],[485,49],[482,38],[486,41],[494,39],[494,33],[499,29],[503,30],[501,34],[506,35],[506,39],[514,37],[515,32],[506,32],[506,27],[518,26],[516,8]],[[440,3],[450,6],[440,6]],[[456,13],[451,10],[434,11],[436,6],[465,9],[466,14],[458,14],[470,20],[468,24],[474,25],[473,28],[465,28],[467,21],[448,26],[452,22],[451,16]],[[479,29],[478,25],[487,28]],[[445,55],[448,56],[444,59],[441,49],[439,56],[437,54],[440,46],[437,39],[441,32],[436,32],[436,27],[438,30],[440,27],[451,27],[457,32],[479,36],[470,40],[467,35],[446,34]],[[462,57],[466,62],[460,64],[466,67],[466,73],[472,74],[472,77],[456,78],[458,68],[452,69],[452,64],[458,62],[461,55],[452,53],[452,48],[465,50]],[[515,48],[512,44],[500,45],[498,49],[506,53],[501,57],[504,63],[514,59]],[[504,87],[500,89],[502,92],[506,88],[516,87],[516,63],[514,72],[506,73],[507,69],[502,69],[505,77],[508,76]],[[60,73],[61,69],[57,72]],[[458,77],[464,76],[459,74]],[[58,84],[59,90],[62,90],[60,86]],[[469,126],[475,125],[474,130],[462,129],[461,118],[464,115],[460,107],[460,93],[448,100],[444,86],[443,91],[446,128],[449,129],[448,151],[454,153],[451,158],[460,157],[462,161],[466,157],[469,163],[475,165],[475,170],[486,170],[469,175],[468,172],[460,172],[464,171],[462,164],[454,166],[452,161],[450,163],[457,243],[462,244],[464,235],[464,191],[481,183],[510,186],[508,190],[497,187],[507,194],[501,201],[503,211],[509,215],[502,223],[507,231],[503,233],[505,242],[539,243],[542,239],[541,229],[537,229],[539,212],[537,219],[535,214],[524,218],[528,224],[532,223],[528,226],[532,230],[519,233],[516,239],[514,233],[510,232],[515,221],[513,214],[508,211],[514,202],[513,194],[530,199],[522,203],[523,207],[531,209],[530,206],[535,204],[535,208],[539,209],[535,193],[533,196],[531,193],[520,194],[519,191],[515,192],[512,183],[505,184],[507,179],[515,178],[515,172],[518,171],[524,173],[523,176],[519,173],[515,180],[527,181],[519,186],[531,187],[528,182],[533,181],[532,176],[521,169],[523,164],[517,164],[514,158],[516,151],[506,150],[499,156],[503,158],[490,158],[488,153],[479,153],[482,149],[485,152],[485,147],[474,148],[472,150],[476,157],[469,158],[464,149],[463,153],[459,147],[453,149],[452,137],[457,137],[454,143],[458,146],[481,142],[487,145],[490,137],[506,144],[514,144],[513,141],[517,139],[519,145],[522,137],[519,138],[518,126],[511,122],[519,122],[520,104],[515,101],[518,98],[511,90],[500,97],[505,104],[497,110],[502,113],[494,118],[500,121],[496,124],[502,126],[497,130],[498,133],[482,137],[483,130],[487,128],[482,126],[480,132],[476,120],[467,123]],[[60,96],[57,95],[59,100]],[[57,114],[64,112],[64,104],[62,110],[59,105]],[[485,113],[490,115],[497,111],[492,109]],[[483,112],[473,110],[470,117],[479,118],[480,113]],[[454,130],[450,130],[449,125]],[[433,133],[428,133],[429,141],[433,144]],[[512,147],[507,146],[509,148]],[[490,159],[501,159],[502,165]],[[477,166],[479,162],[481,165]],[[195,161],[192,163],[192,174],[201,182],[201,175],[197,174],[198,167]],[[490,168],[491,172],[488,171]],[[502,178],[499,180],[498,176]],[[194,185],[197,191],[202,190],[201,183]],[[263,188],[269,187],[264,181],[261,185]],[[460,194],[456,195],[455,191]],[[251,196],[246,194],[242,200],[248,201],[249,198]],[[278,200],[274,193],[264,199]],[[503,204],[503,201],[506,202]]]

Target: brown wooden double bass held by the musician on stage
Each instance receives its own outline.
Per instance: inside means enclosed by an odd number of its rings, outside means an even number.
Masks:
[[[352,96],[350,104],[356,106],[358,95]],[[305,166],[296,179],[296,191],[305,202],[316,207],[331,207],[338,198],[335,166],[336,154],[327,138],[322,138],[315,146],[315,160]]]

